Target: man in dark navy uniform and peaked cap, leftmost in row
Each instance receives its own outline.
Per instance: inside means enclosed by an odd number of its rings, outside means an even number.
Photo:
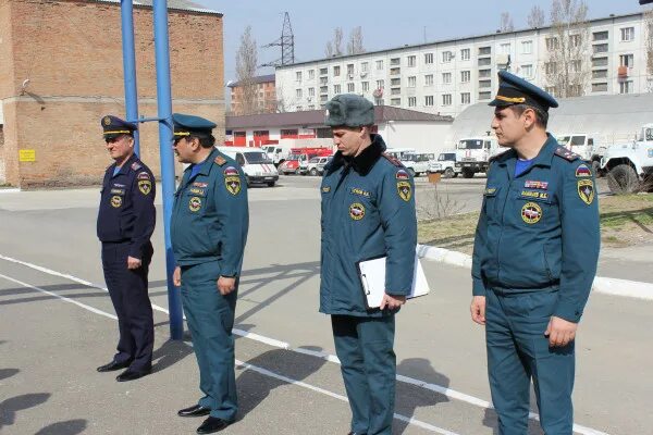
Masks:
[[[127,368],[116,380],[137,380],[151,372],[155,331],[147,274],[153,249],[156,185],[151,171],[134,154],[136,125],[102,117],[107,150],[115,162],[107,169],[98,213],[102,268],[118,314],[118,353],[98,372]]]

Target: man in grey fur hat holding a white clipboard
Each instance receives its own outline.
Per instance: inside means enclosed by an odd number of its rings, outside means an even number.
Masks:
[[[352,408],[350,434],[391,434],[395,313],[412,286],[417,219],[412,178],[371,134],[374,107],[356,95],[326,103],[337,152],[322,179],[320,312],[331,314]],[[386,257],[385,295],[368,309],[357,262]]]

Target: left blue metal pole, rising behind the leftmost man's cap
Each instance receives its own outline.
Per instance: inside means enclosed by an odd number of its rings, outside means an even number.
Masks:
[[[128,121],[138,120],[138,94],[136,91],[136,54],[134,50],[133,0],[121,0],[120,16],[123,38],[123,77],[125,82],[125,110]],[[134,132],[134,152],[140,157],[140,135]]]

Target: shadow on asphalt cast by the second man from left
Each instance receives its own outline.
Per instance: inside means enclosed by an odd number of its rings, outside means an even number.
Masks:
[[[320,347],[305,346],[303,348],[316,352],[322,351]],[[326,360],[289,350],[274,349],[252,358],[247,363],[293,381],[304,381],[320,370],[326,363]],[[241,407],[238,420],[244,419],[245,415],[266,400],[274,388],[289,385],[285,381],[270,377],[243,366],[237,366],[236,370],[242,372],[236,380]]]

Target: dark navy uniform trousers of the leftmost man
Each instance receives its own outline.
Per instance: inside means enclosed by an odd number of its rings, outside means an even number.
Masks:
[[[102,243],[104,282],[118,315],[120,339],[116,363],[131,362],[130,369],[146,372],[152,366],[155,325],[148,296],[147,275],[153,249],[148,244],[138,269],[127,269],[130,243]]]

